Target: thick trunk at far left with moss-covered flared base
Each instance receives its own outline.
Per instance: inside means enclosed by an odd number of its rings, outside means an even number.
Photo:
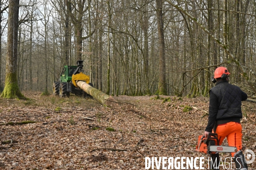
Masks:
[[[9,0],[6,79],[1,97],[23,98],[17,81],[17,37],[19,24],[19,0]]]

